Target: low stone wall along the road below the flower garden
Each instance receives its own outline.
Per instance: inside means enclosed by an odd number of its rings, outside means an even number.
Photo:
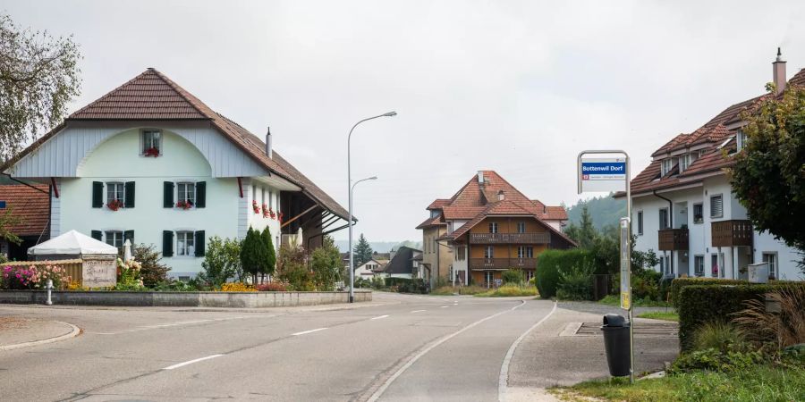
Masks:
[[[0,303],[45,304],[45,290],[2,290]],[[148,307],[290,307],[347,303],[349,292],[121,292],[54,291],[55,306]],[[372,300],[372,292],[356,290],[355,301]]]

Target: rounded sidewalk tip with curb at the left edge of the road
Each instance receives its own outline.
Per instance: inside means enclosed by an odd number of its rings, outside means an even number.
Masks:
[[[0,351],[69,339],[79,333],[78,327],[67,322],[0,316]]]

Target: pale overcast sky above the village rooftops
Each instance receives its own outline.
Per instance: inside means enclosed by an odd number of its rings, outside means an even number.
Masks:
[[[74,35],[72,110],[154,67],[258,135],[356,226],[421,240],[425,207],[479,169],[548,205],[574,203],[576,155],[649,155],[805,67],[802,2],[17,1],[13,21]],[[345,239],[346,230],[335,234]]]

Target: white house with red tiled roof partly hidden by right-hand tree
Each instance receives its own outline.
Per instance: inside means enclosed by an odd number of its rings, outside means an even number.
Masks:
[[[770,277],[799,279],[796,250],[752,228],[728,172],[746,141],[740,113],[780,96],[786,85],[805,85],[805,70],[786,82],[779,53],[773,72],[776,94],[732,105],[698,130],[674,137],[631,180],[636,248],[657,250],[657,270],[666,277],[746,279],[749,264],[767,262]]]

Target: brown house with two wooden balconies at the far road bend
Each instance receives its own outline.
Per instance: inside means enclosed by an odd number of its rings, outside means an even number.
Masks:
[[[422,230],[423,266],[431,278],[492,287],[501,272],[519,268],[532,278],[537,255],[575,247],[562,232],[567,212],[524,196],[493,171],[479,171],[453,197],[428,205]],[[436,285],[431,283],[432,286]]]

